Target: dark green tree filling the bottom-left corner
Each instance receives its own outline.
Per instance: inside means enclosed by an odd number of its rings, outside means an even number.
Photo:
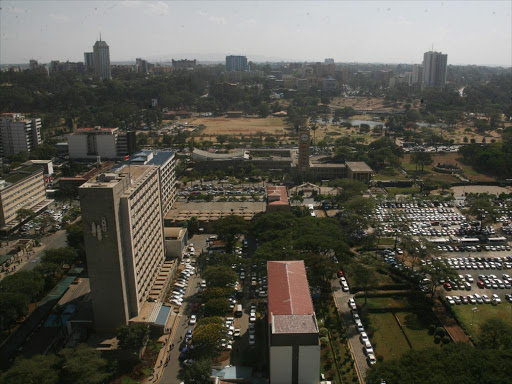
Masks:
[[[7,372],[0,376],[3,384],[57,384],[59,359],[55,355],[36,355],[31,359],[18,358]]]

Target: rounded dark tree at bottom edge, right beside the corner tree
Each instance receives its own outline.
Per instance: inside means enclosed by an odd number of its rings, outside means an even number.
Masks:
[[[59,355],[64,359],[60,374],[62,384],[102,384],[110,377],[108,363],[101,352],[87,344],[75,349],[65,348]]]

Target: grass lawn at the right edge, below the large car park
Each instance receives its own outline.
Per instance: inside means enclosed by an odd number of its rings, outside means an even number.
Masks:
[[[454,305],[453,311],[456,313],[458,319],[464,324],[467,332],[473,337],[478,337],[479,325],[484,323],[490,318],[497,317],[512,325],[512,305],[507,302],[502,302],[498,305],[477,305],[478,312],[475,312],[473,318],[474,305]],[[473,319],[473,326],[471,320]]]

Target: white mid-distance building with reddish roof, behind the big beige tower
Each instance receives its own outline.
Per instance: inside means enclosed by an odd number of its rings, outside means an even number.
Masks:
[[[68,138],[69,158],[122,159],[135,150],[135,134],[119,128],[78,128]]]

